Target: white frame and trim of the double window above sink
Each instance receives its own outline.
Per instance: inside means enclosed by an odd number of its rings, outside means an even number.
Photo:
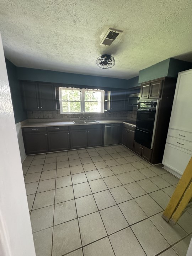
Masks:
[[[67,87],[59,87],[59,103],[60,103],[60,113],[61,114],[82,114],[83,112],[86,114],[102,114],[104,113],[104,95],[105,91],[103,90],[97,90],[95,91],[100,91],[101,92],[101,101],[85,101],[85,93],[86,91],[93,91],[92,89],[81,89],[81,94],[80,94],[80,101],[70,101],[70,102],[80,102],[81,103],[81,112],[63,112],[63,106],[62,106],[62,89],[67,89],[67,90],[74,90],[74,91],[80,91],[79,88],[67,88]],[[68,101],[66,101],[68,102]],[[86,112],[85,111],[85,102],[101,102],[101,112]]]

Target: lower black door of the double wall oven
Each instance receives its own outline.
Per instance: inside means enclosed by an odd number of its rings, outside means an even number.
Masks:
[[[151,148],[151,141],[152,141],[153,132],[142,130],[142,129],[135,129],[135,141],[146,148]]]

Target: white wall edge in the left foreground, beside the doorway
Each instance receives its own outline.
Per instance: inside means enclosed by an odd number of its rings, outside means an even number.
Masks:
[[[20,151],[0,36],[0,255],[35,256]]]

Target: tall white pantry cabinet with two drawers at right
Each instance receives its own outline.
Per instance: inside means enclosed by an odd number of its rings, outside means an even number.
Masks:
[[[181,177],[191,156],[192,69],[178,73],[162,164],[167,171]]]

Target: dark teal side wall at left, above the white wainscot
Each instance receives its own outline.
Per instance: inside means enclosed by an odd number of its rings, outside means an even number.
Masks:
[[[5,62],[11,91],[15,123],[18,123],[27,119],[27,113],[23,108],[21,85],[17,79],[17,67],[7,59],[5,59]]]

